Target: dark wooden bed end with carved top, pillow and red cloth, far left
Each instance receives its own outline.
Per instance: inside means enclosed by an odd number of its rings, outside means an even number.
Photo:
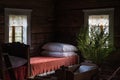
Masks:
[[[29,72],[29,45],[19,42],[2,43],[1,53],[2,57],[7,55],[10,60],[10,63],[5,62],[5,58],[2,61],[3,80],[25,80]],[[13,70],[13,73],[10,70]],[[15,75],[16,79],[13,79],[11,74]]]

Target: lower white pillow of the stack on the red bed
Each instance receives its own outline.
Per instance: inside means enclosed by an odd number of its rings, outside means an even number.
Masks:
[[[42,51],[41,55],[50,57],[69,57],[77,55],[75,52],[54,52],[54,51]]]

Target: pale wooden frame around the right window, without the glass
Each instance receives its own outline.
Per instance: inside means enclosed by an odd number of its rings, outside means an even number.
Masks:
[[[109,15],[109,34],[110,42],[114,45],[114,8],[105,8],[105,9],[89,9],[83,10],[84,12],[84,26],[89,26],[88,19],[90,15]]]

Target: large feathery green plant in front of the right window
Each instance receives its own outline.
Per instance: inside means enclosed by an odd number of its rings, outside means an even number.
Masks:
[[[77,35],[78,49],[83,57],[100,65],[113,51],[109,33],[103,26],[82,27]]]

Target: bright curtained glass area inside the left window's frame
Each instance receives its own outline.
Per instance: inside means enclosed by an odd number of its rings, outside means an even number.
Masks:
[[[9,42],[26,43],[27,16],[9,15]]]

